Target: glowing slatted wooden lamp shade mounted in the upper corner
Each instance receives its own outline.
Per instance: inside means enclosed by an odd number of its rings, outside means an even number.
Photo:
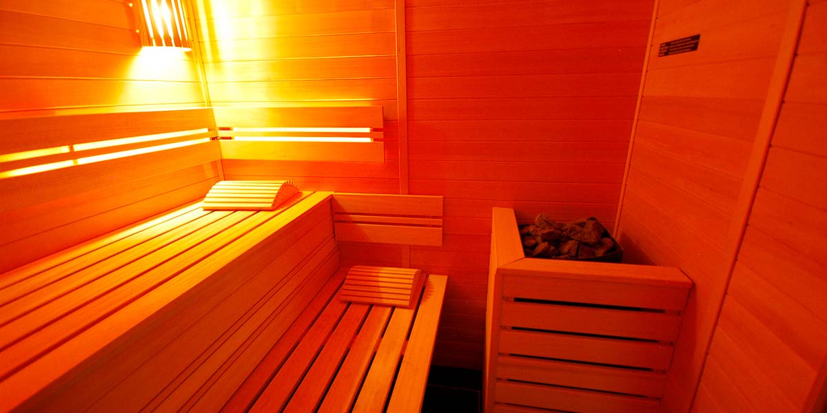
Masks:
[[[141,43],[150,47],[192,47],[187,17],[181,0],[140,0],[138,32]]]

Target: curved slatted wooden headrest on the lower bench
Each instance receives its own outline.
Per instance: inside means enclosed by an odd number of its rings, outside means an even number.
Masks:
[[[339,296],[344,301],[411,308],[422,282],[420,269],[356,265],[347,270]]]

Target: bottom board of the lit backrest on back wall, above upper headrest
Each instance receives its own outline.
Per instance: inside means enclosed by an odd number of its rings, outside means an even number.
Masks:
[[[257,142],[220,140],[222,159],[382,162],[382,142]]]

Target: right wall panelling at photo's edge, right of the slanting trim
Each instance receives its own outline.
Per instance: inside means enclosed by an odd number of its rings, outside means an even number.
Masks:
[[[827,3],[810,2],[758,192],[700,387],[755,411],[811,411],[827,360],[827,153],[813,134],[827,119]],[[733,354],[747,374],[721,369]],[[712,368],[710,368],[712,366]],[[822,373],[823,374],[823,373]],[[703,399],[695,411],[703,411]]]

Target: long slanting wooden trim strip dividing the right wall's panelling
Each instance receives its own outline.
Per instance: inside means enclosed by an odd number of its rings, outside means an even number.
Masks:
[[[749,216],[753,209],[753,202],[755,202],[758,186],[761,183],[761,175],[764,164],[767,162],[770,142],[772,141],[772,135],[775,133],[778,116],[781,113],[784,102],[787,83],[789,83],[790,80],[792,64],[796,59],[796,50],[798,49],[798,41],[801,37],[801,27],[804,24],[806,9],[807,0],[790,2],[781,46],[778,50],[776,63],[772,69],[772,78],[770,79],[770,85],[767,90],[767,98],[764,100],[761,119],[758,121],[758,131],[755,134],[755,140],[753,140],[753,150],[750,154],[743,180],[741,181],[738,201],[735,204],[734,220],[731,225],[729,225],[727,243],[724,244],[729,246],[729,268],[724,281],[724,294],[721,295],[719,302],[713,307],[713,311],[715,311],[715,325],[718,325],[721,309],[724,307],[724,299],[727,296],[726,292],[729,291],[729,281],[732,279],[735,263],[738,261],[743,235],[747,231]],[[710,338],[703,344],[705,349],[704,354],[709,354],[713,336],[714,335],[710,335]],[[695,404],[695,397],[698,392],[700,377],[703,375],[705,364],[706,358],[704,358],[704,361],[701,363],[700,371],[695,382],[692,383],[691,393],[693,405]]]

